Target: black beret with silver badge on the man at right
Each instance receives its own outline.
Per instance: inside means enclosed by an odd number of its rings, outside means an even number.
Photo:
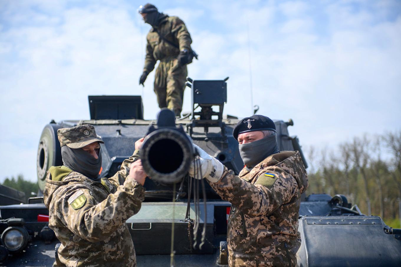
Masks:
[[[274,122],[262,115],[253,115],[251,117],[246,117],[241,119],[237,125],[235,125],[233,130],[233,136],[235,140],[238,140],[238,135],[246,133],[248,131],[276,131]]]

